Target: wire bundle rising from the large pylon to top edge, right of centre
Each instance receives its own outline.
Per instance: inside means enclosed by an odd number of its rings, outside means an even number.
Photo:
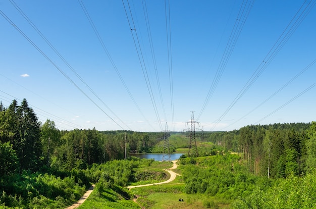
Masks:
[[[207,107],[210,98],[213,96],[213,94],[214,94],[214,92],[215,92],[215,90],[220,82],[220,79],[221,79],[223,72],[228,64],[228,61],[232,55],[232,52],[235,48],[235,45],[236,45],[237,40],[240,36],[240,33],[245,25],[245,22],[250,14],[250,11],[252,9],[253,4],[254,4],[254,1],[246,0],[246,1],[242,2],[241,6],[239,8],[239,12],[238,12],[237,18],[235,20],[234,26],[232,28],[232,31],[230,33],[229,39],[227,41],[223,56],[221,58],[219,66],[217,68],[213,82],[212,82],[212,84],[207,92],[206,99],[203,102],[203,105],[202,105],[201,111],[199,112],[197,120],[199,120],[201,115],[204,113],[205,108]]]

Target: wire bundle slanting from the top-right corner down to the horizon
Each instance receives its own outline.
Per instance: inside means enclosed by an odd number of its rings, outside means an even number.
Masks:
[[[287,25],[287,27],[283,30],[282,34],[279,36],[277,41],[274,43],[272,48],[269,50],[269,52],[266,55],[266,57],[264,58],[264,60],[259,64],[259,66],[256,68],[256,70],[253,72],[251,77],[248,79],[246,84],[243,86],[243,88],[240,90],[240,92],[237,94],[237,96],[231,102],[229,107],[220,116],[220,118],[218,118],[216,120],[216,122],[214,123],[213,127],[211,128],[211,130],[213,130],[222,121],[222,119],[233,108],[233,106],[237,103],[237,101],[248,91],[248,89],[258,79],[258,77],[262,74],[262,72],[264,72],[266,70],[268,65],[272,62],[272,60],[279,53],[279,51],[282,49],[284,44],[288,41],[288,39],[291,37],[291,35],[296,31],[296,29],[298,28],[300,23],[305,19],[307,14],[314,7],[315,2],[313,0],[310,1],[308,4],[306,4],[306,1],[302,4],[302,6],[296,12],[294,17],[291,19],[291,21]],[[305,5],[305,7],[304,7],[304,5]]]

